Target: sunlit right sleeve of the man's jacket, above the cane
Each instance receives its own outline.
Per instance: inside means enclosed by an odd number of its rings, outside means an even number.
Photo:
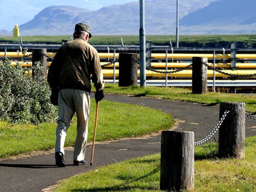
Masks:
[[[94,83],[96,91],[102,90],[104,88],[103,72],[101,69],[101,63],[99,61],[99,55],[96,50],[92,53],[90,73],[92,74],[91,79]]]

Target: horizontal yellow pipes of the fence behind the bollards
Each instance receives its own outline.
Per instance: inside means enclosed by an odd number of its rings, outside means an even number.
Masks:
[[[29,54],[31,54],[31,52],[27,52],[25,54],[25,56],[28,56]],[[53,58],[55,56],[55,53],[48,52],[47,56]],[[0,57],[5,57],[5,52],[0,52]],[[21,52],[19,52],[19,53],[17,53],[17,52],[7,52],[6,57],[15,60],[15,58],[24,57],[24,55]],[[32,57],[32,56],[29,56],[29,57]],[[113,59],[114,53],[99,53],[99,57],[101,59],[104,58],[105,60],[107,58],[112,58]],[[139,57],[139,54],[138,54],[138,57]],[[164,58],[166,58],[166,54],[165,53],[152,53],[151,57],[155,58],[156,60],[157,59],[164,59]],[[172,54],[172,53],[169,53],[169,54],[167,54],[167,57],[168,57],[168,59],[180,59],[180,60],[182,60],[182,59],[191,59],[192,60],[192,57],[207,57],[208,59],[213,59],[214,55],[213,54],[183,54],[183,53]],[[119,58],[119,53],[115,53],[115,58],[116,59]],[[256,59],[256,54],[236,54],[236,58],[238,58],[238,59]],[[216,54],[215,59],[221,59],[221,60],[222,59],[231,59],[231,54]],[[11,65],[17,65],[17,63],[24,66],[24,67],[31,67],[32,66],[31,61],[23,61],[23,62],[12,61]],[[104,65],[104,64],[107,64],[107,63],[108,63],[107,61],[104,61],[104,62],[101,62],[101,65]],[[168,62],[167,67],[168,68],[182,68],[182,67],[186,67],[189,64],[190,63],[187,63],[187,62]],[[213,63],[208,63],[208,64],[213,67]],[[50,65],[51,65],[51,62],[47,62],[47,66],[50,66]],[[103,68],[104,77],[112,78],[114,76],[113,69],[109,69],[109,68],[113,68],[113,66],[114,65],[112,64],[112,65],[106,66],[107,69]],[[164,68],[164,67],[166,67],[166,63],[165,62],[152,62],[151,66],[155,67],[155,68]],[[115,67],[117,67],[117,68],[119,67],[118,62],[115,63]],[[217,68],[230,68],[231,64],[220,62],[220,63],[216,63],[215,67],[217,67]],[[256,68],[256,63],[250,63],[250,62],[237,63],[236,67],[241,68],[243,70],[234,70],[234,71],[232,71],[232,70],[225,69],[223,71],[225,71],[227,73],[230,73],[230,74],[237,74],[237,75],[247,75],[247,74],[256,73],[256,70],[253,70],[254,68]],[[245,69],[249,69],[249,70],[245,70]],[[165,71],[165,70],[162,70],[162,71]],[[172,71],[172,70],[168,70],[168,71]],[[29,74],[29,72],[28,72],[28,74]],[[118,75],[119,75],[119,70],[116,69],[115,70],[115,76],[117,77]],[[140,71],[138,70],[138,77],[139,76],[140,76]],[[153,77],[153,78],[154,77],[159,77],[159,78],[163,77],[164,78],[165,74],[159,74],[159,73],[156,73],[156,72],[153,72],[153,71],[146,71],[146,76],[147,77]],[[176,72],[176,73],[173,73],[173,74],[168,74],[168,77],[190,78],[191,76],[192,76],[192,70],[190,70],[190,69],[183,70],[183,71],[180,71],[180,72]],[[217,73],[217,72],[215,73],[215,76],[216,77],[227,77],[227,75],[220,74],[220,73]],[[208,77],[213,77],[213,70],[208,70]]]

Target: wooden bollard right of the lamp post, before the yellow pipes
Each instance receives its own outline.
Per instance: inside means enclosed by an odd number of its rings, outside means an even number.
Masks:
[[[192,58],[192,93],[204,94],[207,93],[207,64],[206,57]]]

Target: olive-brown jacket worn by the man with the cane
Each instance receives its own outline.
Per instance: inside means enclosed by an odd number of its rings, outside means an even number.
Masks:
[[[47,81],[50,87],[90,92],[91,79],[96,90],[103,89],[103,74],[97,50],[82,38],[64,43],[48,70]]]

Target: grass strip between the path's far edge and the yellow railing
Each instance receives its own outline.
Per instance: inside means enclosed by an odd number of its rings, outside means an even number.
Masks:
[[[106,93],[128,94],[146,97],[163,98],[170,100],[180,100],[188,102],[203,103],[208,105],[217,105],[220,102],[245,102],[246,111],[256,112],[256,97],[248,94],[231,94],[231,93],[213,93],[207,94],[192,94],[191,89],[183,88],[165,88],[146,86],[119,87],[118,84],[106,84],[104,88]]]

